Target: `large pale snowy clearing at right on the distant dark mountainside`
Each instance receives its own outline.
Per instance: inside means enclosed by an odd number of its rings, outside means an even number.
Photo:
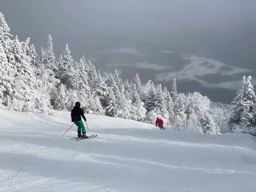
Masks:
[[[172,52],[170,52],[170,54],[172,54]],[[189,60],[189,64],[186,64],[179,71],[171,71],[158,74],[155,79],[156,81],[172,81],[173,78],[176,78],[187,81],[198,81],[204,87],[222,87],[226,89],[237,90],[241,88],[241,77],[244,74],[254,73],[253,70],[232,67],[230,65],[209,58],[186,54],[180,55],[183,57],[183,59]],[[212,75],[216,74],[221,77],[222,82],[210,83],[207,81],[211,78]],[[202,77],[206,77],[204,79],[207,80],[201,79]],[[230,81],[229,79],[233,80]],[[215,78],[215,81],[217,81],[217,78]],[[256,84],[255,78],[252,79],[252,84]]]

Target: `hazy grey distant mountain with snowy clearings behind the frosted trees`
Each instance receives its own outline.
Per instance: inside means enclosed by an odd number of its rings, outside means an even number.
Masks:
[[[94,63],[108,72],[117,69],[123,79],[130,81],[138,73],[143,83],[151,79],[169,90],[176,78],[178,91],[198,91],[209,99],[226,103],[232,102],[241,88],[242,76],[253,76],[252,84],[256,85],[254,70],[172,51],[145,55],[131,48],[112,49],[96,55]]]

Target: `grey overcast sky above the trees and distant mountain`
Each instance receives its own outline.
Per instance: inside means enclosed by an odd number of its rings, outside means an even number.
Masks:
[[[0,0],[0,12],[38,51],[51,34],[57,58],[65,44],[79,59],[141,43],[256,70],[256,0]]]

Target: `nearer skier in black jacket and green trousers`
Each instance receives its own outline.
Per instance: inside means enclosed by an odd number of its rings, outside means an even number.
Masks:
[[[81,116],[83,117],[84,121],[87,122],[84,116],[84,110],[80,108],[80,102],[76,102],[74,108],[71,111],[71,122],[74,122],[77,126],[77,133],[78,138],[88,138],[86,135],[84,123],[81,120]],[[82,129],[82,134],[81,134]]]

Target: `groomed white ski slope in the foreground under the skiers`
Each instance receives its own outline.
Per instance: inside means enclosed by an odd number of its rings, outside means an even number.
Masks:
[[[70,113],[0,110],[0,192],[254,192],[256,142],[87,114],[89,140]]]

